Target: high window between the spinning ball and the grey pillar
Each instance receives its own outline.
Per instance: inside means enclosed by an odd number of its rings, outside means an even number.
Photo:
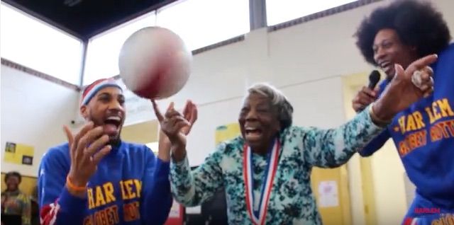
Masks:
[[[196,50],[248,33],[249,1],[178,1],[157,11],[156,25],[174,31],[189,50]]]

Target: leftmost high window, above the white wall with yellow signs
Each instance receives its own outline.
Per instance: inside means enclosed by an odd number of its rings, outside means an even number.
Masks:
[[[79,84],[82,42],[1,3],[1,57]]]

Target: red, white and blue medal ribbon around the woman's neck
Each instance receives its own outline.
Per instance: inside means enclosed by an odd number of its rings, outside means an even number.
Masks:
[[[279,161],[279,140],[275,140],[275,144],[267,156],[267,170],[262,183],[262,191],[260,192],[260,200],[258,200],[258,208],[254,209],[254,192],[253,192],[253,154],[249,146],[245,144],[243,151],[243,175],[245,179],[246,192],[246,207],[250,218],[255,225],[263,225],[266,221],[268,202],[270,200],[272,184],[275,180],[277,164]]]

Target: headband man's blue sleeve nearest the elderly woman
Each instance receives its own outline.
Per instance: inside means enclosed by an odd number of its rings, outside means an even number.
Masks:
[[[143,178],[143,224],[164,224],[172,207],[169,171],[170,163],[161,161],[148,149]]]

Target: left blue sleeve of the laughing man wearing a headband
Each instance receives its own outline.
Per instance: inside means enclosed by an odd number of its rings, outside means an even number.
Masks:
[[[61,149],[50,149],[43,156],[38,170],[41,224],[83,224],[87,199],[74,197],[67,191],[65,184],[69,170],[69,154],[64,154]]]

